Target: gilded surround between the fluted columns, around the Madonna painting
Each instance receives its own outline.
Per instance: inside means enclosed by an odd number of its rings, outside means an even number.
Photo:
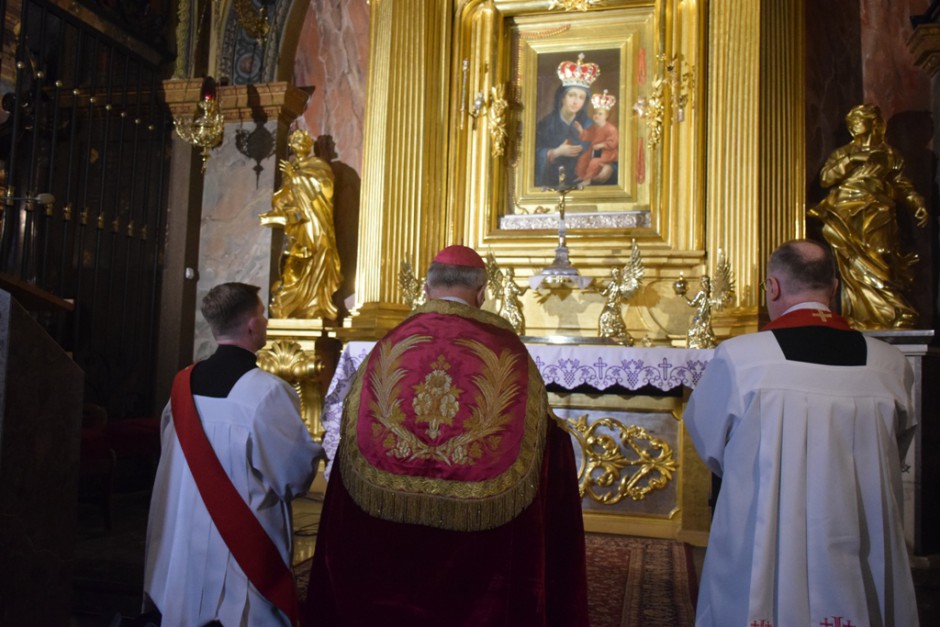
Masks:
[[[552,3],[549,3],[552,4]],[[457,123],[451,125],[454,173],[450,215],[453,230],[466,233],[471,245],[492,251],[502,262],[538,263],[551,260],[555,233],[544,228],[506,228],[501,218],[515,213],[535,213],[553,208],[552,192],[535,189],[526,179],[532,170],[532,125],[537,112],[534,96],[537,77],[531,70],[540,55],[616,50],[623,67],[617,83],[621,123],[621,171],[634,169],[637,138],[649,138],[647,121],[633,111],[634,103],[649,96],[651,84],[662,77],[664,65],[676,59],[680,73],[704,67],[704,18],[696,2],[680,0],[623,0],[596,3],[587,11],[545,11],[545,3],[525,0],[468,2],[458,17],[454,33],[451,93],[461,94],[453,103]],[[648,80],[642,86],[631,77],[638,71],[640,53],[646,59]],[[603,68],[602,68],[603,74]],[[674,106],[680,94],[662,94],[665,111],[656,120],[662,125],[655,146],[644,145],[647,182],[640,189],[619,185],[620,194],[604,194],[590,188],[569,197],[574,212],[579,206],[594,213],[583,228],[569,230],[575,263],[588,265],[610,260],[629,238],[644,247],[687,257],[683,251],[701,250],[704,236],[703,129],[701,82],[682,86],[687,104],[681,115]],[[496,90],[494,92],[494,89]],[[484,107],[492,107],[494,93],[506,99],[506,149],[498,155],[494,142],[501,135],[491,116],[470,117],[474,100],[484,95]],[[479,100],[477,100],[479,102]],[[522,188],[522,189],[520,189]],[[579,196],[581,197],[579,199]],[[518,201],[518,202],[515,202]],[[517,206],[513,207],[512,205]],[[595,208],[595,211],[590,211]],[[648,213],[648,219],[621,220],[621,211]],[[540,228],[541,227],[541,228]],[[699,256],[700,258],[700,256]],[[596,261],[595,261],[596,260]],[[688,259],[688,261],[693,261]]]

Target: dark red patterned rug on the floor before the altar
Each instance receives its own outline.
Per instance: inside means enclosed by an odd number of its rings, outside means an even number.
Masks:
[[[686,627],[698,586],[688,545],[672,540],[585,534],[591,627]],[[294,566],[307,596],[310,563]]]

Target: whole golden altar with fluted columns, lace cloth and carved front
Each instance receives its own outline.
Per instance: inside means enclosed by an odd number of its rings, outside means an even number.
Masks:
[[[328,425],[344,395],[339,382],[351,377],[364,347],[410,309],[402,264],[423,273],[454,243],[492,255],[516,287],[530,286],[518,297],[526,335],[574,342],[527,345],[533,354],[564,355],[543,358],[557,364],[546,365],[543,377],[580,449],[587,528],[704,544],[709,476],[681,423],[694,380],[594,387],[565,377],[577,381],[574,360],[583,374],[604,351],[625,363],[640,360],[650,376],[676,363],[693,311],[674,285],[714,276],[720,251],[737,289],[712,318],[715,335],[757,328],[764,259],[804,231],[802,65],[793,62],[802,54],[802,15],[762,12],[756,2],[575,4],[373,4],[358,257],[355,268],[343,268],[355,275],[351,315],[312,332],[304,321],[272,320],[269,340],[283,342],[276,361],[296,385],[304,385],[296,376],[304,372],[319,378],[319,387],[302,394],[304,417],[322,434],[318,401],[325,397],[330,448]],[[724,43],[728,32],[738,34],[733,45]],[[551,113],[558,68],[581,63],[581,54],[599,67],[592,90],[617,100],[610,118],[620,131],[617,176],[569,190],[563,213],[560,186],[537,175],[537,131]],[[777,62],[762,73],[768,58]],[[775,141],[758,141],[771,135]],[[565,227],[570,263],[584,281],[577,289],[533,286]],[[595,345],[604,290],[634,242],[645,275],[622,319],[637,346]],[[335,361],[317,370],[311,359],[313,336],[344,344],[332,379],[326,369]],[[709,352],[692,352],[704,367]],[[584,454],[592,447],[593,461]],[[645,466],[632,463],[643,456],[651,460]],[[631,482],[637,467],[646,474]]]

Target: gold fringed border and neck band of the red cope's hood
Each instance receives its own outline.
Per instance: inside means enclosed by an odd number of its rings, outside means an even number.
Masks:
[[[415,313],[452,313],[512,330],[502,317],[452,303],[429,301]],[[485,481],[450,481],[397,475],[375,468],[359,451],[359,402],[370,358],[360,365],[346,397],[339,463],[343,483],[365,512],[391,522],[452,531],[482,531],[504,525],[535,498],[542,472],[549,415],[548,395],[535,362],[526,353],[528,387],[525,425],[519,454],[501,475]]]

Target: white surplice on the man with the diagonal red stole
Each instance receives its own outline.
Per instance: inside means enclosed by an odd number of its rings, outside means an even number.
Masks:
[[[258,368],[227,398],[194,396],[203,429],[238,493],[291,564],[291,500],[313,479],[322,447],[300,417],[293,389]],[[219,535],[193,481],[168,403],[147,529],[144,592],[163,625],[219,620],[226,627],[289,625],[248,581]]]

